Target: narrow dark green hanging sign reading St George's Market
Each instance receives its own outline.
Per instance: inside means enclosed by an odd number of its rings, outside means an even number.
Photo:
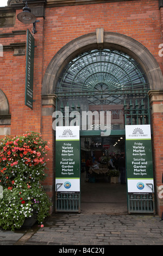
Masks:
[[[31,109],[33,109],[34,47],[34,37],[27,29],[25,105]]]

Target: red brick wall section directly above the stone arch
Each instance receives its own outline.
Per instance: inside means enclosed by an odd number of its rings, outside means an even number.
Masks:
[[[158,56],[158,46],[161,43],[158,0],[140,0],[47,8],[43,71],[45,72],[49,59],[62,46],[78,36],[95,32],[99,27],[103,27],[104,31],[128,35],[141,42],[155,56],[162,69],[162,60]],[[47,48],[51,51],[47,51]]]

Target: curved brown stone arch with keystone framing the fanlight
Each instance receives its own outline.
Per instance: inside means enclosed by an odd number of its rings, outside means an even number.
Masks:
[[[81,52],[99,47],[126,52],[140,63],[143,71],[145,71],[151,90],[160,90],[162,88],[163,80],[159,64],[145,46],[129,36],[103,32],[103,29],[97,29],[95,33],[86,34],[68,42],[55,54],[43,78],[42,95],[55,93],[60,72],[73,57]]]

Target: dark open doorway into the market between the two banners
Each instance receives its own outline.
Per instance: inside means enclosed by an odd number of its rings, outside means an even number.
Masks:
[[[81,211],[127,214],[126,179],[122,184],[118,166],[125,153],[124,136],[82,137],[80,141]]]

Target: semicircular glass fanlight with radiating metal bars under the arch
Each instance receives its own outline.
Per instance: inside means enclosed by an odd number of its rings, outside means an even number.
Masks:
[[[117,50],[92,50],[71,60],[59,77],[56,93],[87,92],[89,101],[107,104],[107,92],[148,89],[146,75],[139,63]],[[90,94],[93,92],[93,94]],[[109,96],[118,103],[119,96]]]

